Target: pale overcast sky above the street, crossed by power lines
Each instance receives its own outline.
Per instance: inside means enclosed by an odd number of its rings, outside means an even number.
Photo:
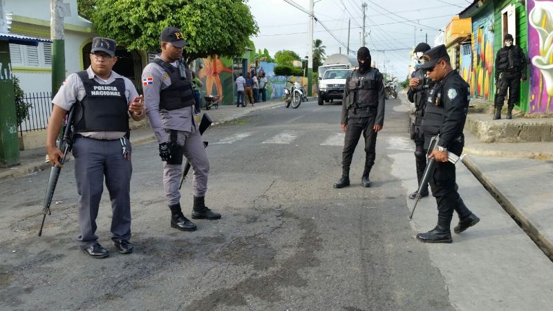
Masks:
[[[309,9],[309,0],[292,0]],[[409,66],[409,51],[416,43],[424,41],[428,34],[430,46],[453,15],[469,6],[469,0],[315,0],[315,23],[313,38],[321,39],[326,54],[346,54],[348,19],[351,19],[350,50],[353,55],[361,46],[363,11],[366,2],[365,27],[368,36],[366,45],[379,70],[392,71],[403,79]],[[259,25],[259,35],[254,37],[256,49],[267,48],[274,56],[278,50],[294,50],[301,57],[308,51],[308,22],[305,12],[294,8],[284,0],[249,0],[252,15]],[[328,28],[344,46],[332,37]],[[380,51],[377,51],[380,50]],[[386,62],[387,61],[387,62]]]

